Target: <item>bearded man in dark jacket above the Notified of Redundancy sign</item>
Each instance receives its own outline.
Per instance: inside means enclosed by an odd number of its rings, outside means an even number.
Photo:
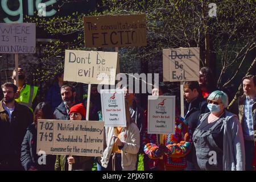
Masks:
[[[60,88],[60,94],[63,102],[55,109],[54,115],[56,119],[69,120],[69,110],[76,104],[76,89],[71,85],[63,85]]]

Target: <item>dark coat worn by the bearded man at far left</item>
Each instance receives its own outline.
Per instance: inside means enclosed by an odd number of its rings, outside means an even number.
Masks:
[[[15,109],[9,114],[0,101],[0,171],[22,170],[20,148],[27,127],[33,121],[33,114],[27,106],[15,102]]]

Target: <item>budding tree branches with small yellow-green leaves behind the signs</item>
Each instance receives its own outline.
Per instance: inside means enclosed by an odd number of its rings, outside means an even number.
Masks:
[[[208,15],[209,3],[216,3],[217,18]],[[43,65],[47,65],[57,55],[63,60],[65,49],[97,50],[84,46],[84,16],[146,14],[147,46],[119,48],[121,72],[138,72],[135,63],[140,61],[144,65],[147,61],[161,60],[159,55],[163,48],[200,47],[201,65],[205,65],[205,35],[209,34],[213,50],[221,61],[222,77],[230,68],[234,70],[230,75],[235,75],[241,58],[255,48],[254,5],[253,0],[103,0],[97,10],[89,14],[73,13],[49,19],[28,17],[28,21],[36,22],[37,26],[59,39],[43,50],[40,60]],[[51,68],[43,67],[42,72],[52,73],[63,69],[63,61]],[[225,78],[228,80],[229,77]],[[226,80],[220,78],[219,86],[224,85]]]

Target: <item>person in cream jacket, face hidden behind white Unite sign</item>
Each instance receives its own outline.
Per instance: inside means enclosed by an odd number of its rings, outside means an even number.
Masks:
[[[127,101],[125,114],[126,127],[105,127],[107,147],[101,158],[104,170],[135,171],[137,169],[140,135],[137,125],[131,119]]]

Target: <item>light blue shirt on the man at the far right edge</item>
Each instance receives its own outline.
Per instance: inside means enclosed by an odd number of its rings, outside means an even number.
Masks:
[[[243,136],[246,140],[254,140],[253,137],[253,104],[255,102],[246,96],[245,100],[245,119],[243,121]]]

